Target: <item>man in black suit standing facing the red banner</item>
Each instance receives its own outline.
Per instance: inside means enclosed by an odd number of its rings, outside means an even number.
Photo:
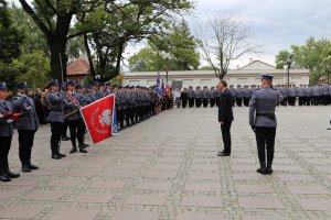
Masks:
[[[234,120],[232,102],[233,96],[227,88],[227,82],[221,80],[217,85],[217,89],[221,90],[220,105],[218,105],[218,122],[221,123],[221,131],[224,144],[224,151],[220,152],[218,156],[229,156],[231,155],[231,124]]]

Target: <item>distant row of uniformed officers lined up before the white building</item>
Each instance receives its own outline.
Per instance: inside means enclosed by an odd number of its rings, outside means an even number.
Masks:
[[[331,86],[330,85],[316,85],[316,86],[306,86],[300,85],[296,87],[291,85],[287,86],[275,86],[282,96],[282,100],[278,103],[281,106],[328,106],[331,105]],[[238,85],[236,88],[231,85],[228,87],[232,97],[233,97],[233,107],[248,107],[249,100],[252,99],[253,91],[259,89],[259,86],[244,86]],[[196,87],[195,90],[193,87],[189,88],[175,88],[174,90],[174,103],[178,108],[196,108],[200,107],[215,107],[218,106],[218,100],[221,97],[221,91],[214,87],[203,88]]]

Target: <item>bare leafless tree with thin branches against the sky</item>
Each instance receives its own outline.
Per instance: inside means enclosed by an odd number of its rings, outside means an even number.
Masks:
[[[248,53],[258,53],[258,46],[248,42],[249,29],[243,21],[222,14],[214,16],[200,28],[197,38],[202,58],[214,69],[216,77],[223,79],[229,64]]]

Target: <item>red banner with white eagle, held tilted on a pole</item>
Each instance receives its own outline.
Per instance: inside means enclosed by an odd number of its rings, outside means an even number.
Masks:
[[[115,95],[109,95],[81,108],[85,125],[94,144],[113,136],[113,121],[116,114]]]

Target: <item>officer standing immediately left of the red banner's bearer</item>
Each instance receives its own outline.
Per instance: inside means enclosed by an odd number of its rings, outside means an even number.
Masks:
[[[61,134],[64,130],[64,96],[60,94],[60,85],[56,79],[50,82],[51,91],[47,95],[50,106],[49,122],[51,123],[51,150],[52,158],[60,160],[65,154],[60,153]]]

